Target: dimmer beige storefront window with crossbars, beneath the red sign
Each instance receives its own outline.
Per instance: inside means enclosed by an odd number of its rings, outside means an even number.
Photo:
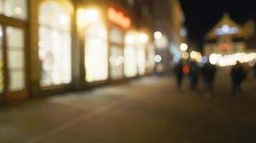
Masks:
[[[122,79],[124,77],[124,36],[122,33],[122,29],[112,27],[110,31],[109,41],[111,43],[109,57],[109,61],[111,64],[111,79]]]

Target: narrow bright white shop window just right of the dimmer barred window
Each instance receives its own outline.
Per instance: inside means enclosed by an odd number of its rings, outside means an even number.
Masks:
[[[137,49],[135,34],[127,32],[124,46],[124,75],[125,77],[137,76]]]

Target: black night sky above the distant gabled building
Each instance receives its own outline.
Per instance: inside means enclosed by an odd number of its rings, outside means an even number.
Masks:
[[[255,0],[180,0],[186,16],[188,38],[202,44],[206,33],[221,19],[224,12],[238,24],[248,19],[256,21]]]

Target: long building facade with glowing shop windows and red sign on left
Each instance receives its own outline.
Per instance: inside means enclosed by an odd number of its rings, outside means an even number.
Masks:
[[[131,1],[0,1],[0,102],[151,74],[150,30]]]

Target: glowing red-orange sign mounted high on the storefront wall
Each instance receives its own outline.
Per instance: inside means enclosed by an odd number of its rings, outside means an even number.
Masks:
[[[131,19],[129,19],[127,16],[124,16],[122,11],[117,11],[113,7],[108,9],[107,16],[109,21],[117,24],[118,26],[121,26],[124,29],[128,29],[131,26]]]

